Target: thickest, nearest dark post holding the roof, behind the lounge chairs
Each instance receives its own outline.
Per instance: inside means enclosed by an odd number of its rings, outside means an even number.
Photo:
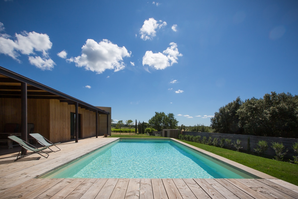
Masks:
[[[21,139],[27,142],[27,83],[21,83]],[[27,150],[22,148],[22,155],[26,155]]]

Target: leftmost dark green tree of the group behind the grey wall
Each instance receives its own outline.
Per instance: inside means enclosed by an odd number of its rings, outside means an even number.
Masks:
[[[219,133],[242,134],[243,129],[239,126],[237,110],[243,104],[240,97],[229,104],[220,107],[218,112],[211,118],[211,127]]]

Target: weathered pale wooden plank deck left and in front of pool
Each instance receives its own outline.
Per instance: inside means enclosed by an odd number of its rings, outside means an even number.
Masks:
[[[5,155],[1,150],[0,198],[298,198],[298,186],[268,175],[266,179],[36,178],[116,139],[63,143],[61,151],[51,152],[47,159],[30,155],[16,162],[15,152]]]

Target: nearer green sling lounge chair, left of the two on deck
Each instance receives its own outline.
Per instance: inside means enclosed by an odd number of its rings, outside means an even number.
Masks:
[[[47,154],[46,152],[43,151],[44,149],[49,148],[48,146],[46,146],[44,148],[41,148],[41,149],[38,149],[35,146],[32,146],[31,144],[29,144],[29,143],[21,140],[21,138],[18,138],[18,137],[14,136],[14,135],[13,136],[8,136],[8,138],[11,139],[12,141],[18,143],[19,145],[21,145],[21,149],[20,149],[20,151],[18,153],[18,156],[17,156],[17,159],[15,159],[15,161],[17,161],[20,158],[24,158],[24,157],[26,157],[26,156],[28,156],[28,155],[30,155],[32,153],[37,153],[37,154],[39,154],[39,155],[41,155],[41,156],[43,156],[45,158],[48,158],[49,157],[49,154]],[[32,152],[29,152],[26,155],[20,155],[22,148],[27,149],[27,150],[32,151]],[[47,156],[44,156],[41,152],[45,153]]]

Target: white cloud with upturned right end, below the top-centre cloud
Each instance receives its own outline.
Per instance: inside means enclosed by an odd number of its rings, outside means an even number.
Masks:
[[[162,53],[152,53],[152,51],[146,51],[143,57],[143,66],[145,64],[154,67],[156,70],[162,70],[166,67],[172,66],[174,63],[178,63],[178,57],[182,56],[178,52],[177,44],[172,42],[170,47],[164,50]]]

